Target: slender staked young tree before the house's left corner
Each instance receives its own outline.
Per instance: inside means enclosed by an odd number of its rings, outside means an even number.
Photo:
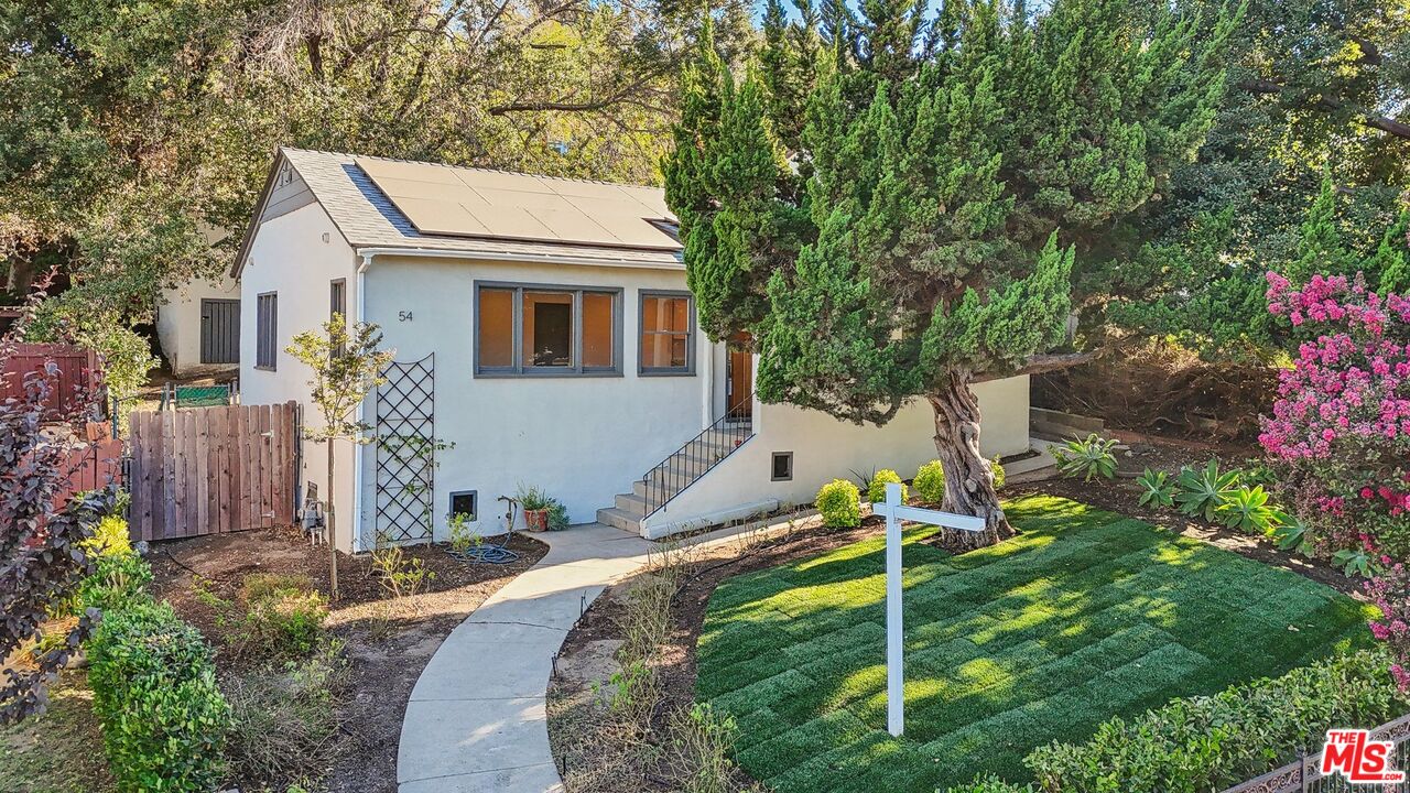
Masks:
[[[285,350],[313,370],[309,381],[310,399],[323,416],[321,428],[305,428],[309,440],[321,440],[329,453],[327,512],[329,526],[329,586],[333,600],[338,598],[337,516],[333,494],[333,442],[369,443],[367,423],[357,420],[357,406],[386,382],[386,368],[396,350],[378,350],[382,330],[376,325],[358,322],[348,327],[341,313],[323,323],[323,332],[305,330],[293,337]]]

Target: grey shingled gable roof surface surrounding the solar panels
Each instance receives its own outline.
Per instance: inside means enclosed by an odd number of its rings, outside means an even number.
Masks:
[[[539,182],[563,182],[565,185],[608,185],[608,182],[588,182],[575,179],[557,179],[546,176],[509,175],[502,171],[488,171],[481,168],[453,168],[437,164],[417,164],[405,159],[371,158],[352,154],[338,154],[327,151],[309,151],[300,148],[279,148],[264,192],[255,205],[254,216],[245,230],[245,238],[240,247],[231,275],[240,277],[244,268],[250,246],[264,216],[269,195],[274,192],[279,169],[285,162],[303,179],[313,199],[323,206],[338,231],[354,250],[367,248],[403,248],[407,251],[444,251],[446,255],[465,258],[495,258],[522,261],[561,261],[572,260],[585,264],[626,265],[626,267],[668,267],[684,268],[678,243],[666,243],[660,247],[629,247],[622,244],[591,244],[582,241],[565,241],[551,238],[505,238],[505,237],[474,237],[468,234],[427,234],[417,230],[416,224],[396,206],[392,196],[388,196],[376,181],[358,165],[364,161],[374,169],[374,164],[403,164],[399,168],[444,168],[447,172],[462,172],[470,179],[488,179],[492,175],[536,179]],[[398,168],[398,167],[393,167]],[[393,168],[389,168],[393,169]],[[619,186],[633,190],[651,205],[653,199],[664,209],[664,198],[658,188]],[[582,192],[571,190],[570,192]],[[491,210],[494,206],[491,205]],[[653,219],[653,226],[668,227],[673,217]],[[643,219],[643,223],[651,220]],[[548,234],[544,234],[548,237]]]

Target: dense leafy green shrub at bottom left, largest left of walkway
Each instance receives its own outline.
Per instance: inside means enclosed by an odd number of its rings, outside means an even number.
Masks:
[[[89,643],[93,713],[123,793],[213,790],[230,707],[210,646],[162,604],[110,612]]]

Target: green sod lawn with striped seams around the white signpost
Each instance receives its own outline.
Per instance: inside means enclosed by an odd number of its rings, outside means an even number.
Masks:
[[[756,779],[778,793],[1021,782],[1034,746],[1369,636],[1369,607],[1294,573],[1062,498],[1007,509],[1024,533],[963,556],[907,532],[900,741],[881,539],[721,584],[697,693],[736,717]]]

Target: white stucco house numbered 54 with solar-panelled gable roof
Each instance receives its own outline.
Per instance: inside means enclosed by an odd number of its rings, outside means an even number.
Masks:
[[[884,428],[760,404],[754,357],[695,325],[660,189],[285,148],[231,278],[247,405],[307,402],[283,350],[330,312],[396,350],[361,408],[378,440],[337,447],[344,550],[446,539],[453,512],[499,533],[519,484],[658,538],[935,456],[925,404]],[[1028,378],[977,392],[984,453],[1026,452]]]

